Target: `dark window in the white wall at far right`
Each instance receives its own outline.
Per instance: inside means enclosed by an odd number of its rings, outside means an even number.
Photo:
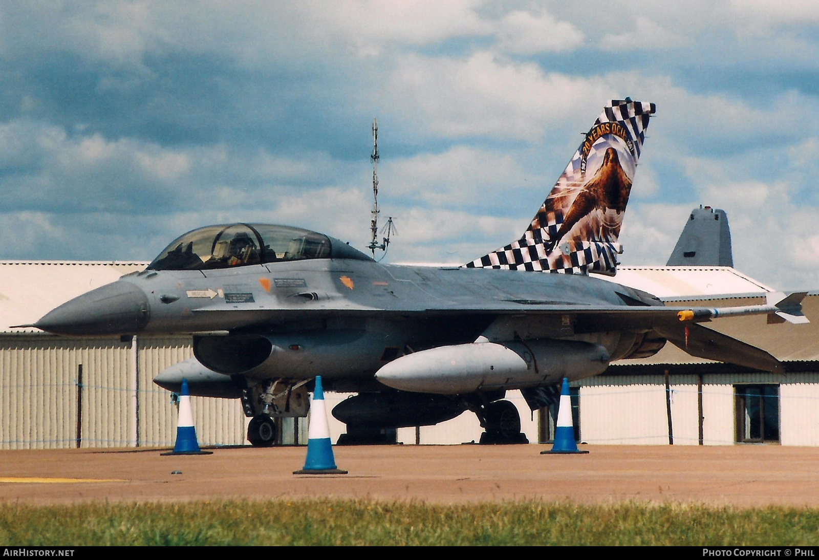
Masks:
[[[779,442],[779,386],[735,385],[736,441]]]

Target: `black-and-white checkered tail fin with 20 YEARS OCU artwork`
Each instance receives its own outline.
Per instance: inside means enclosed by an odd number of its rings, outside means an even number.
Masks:
[[[655,111],[628,97],[605,106],[523,237],[465,266],[616,273],[623,213]]]

